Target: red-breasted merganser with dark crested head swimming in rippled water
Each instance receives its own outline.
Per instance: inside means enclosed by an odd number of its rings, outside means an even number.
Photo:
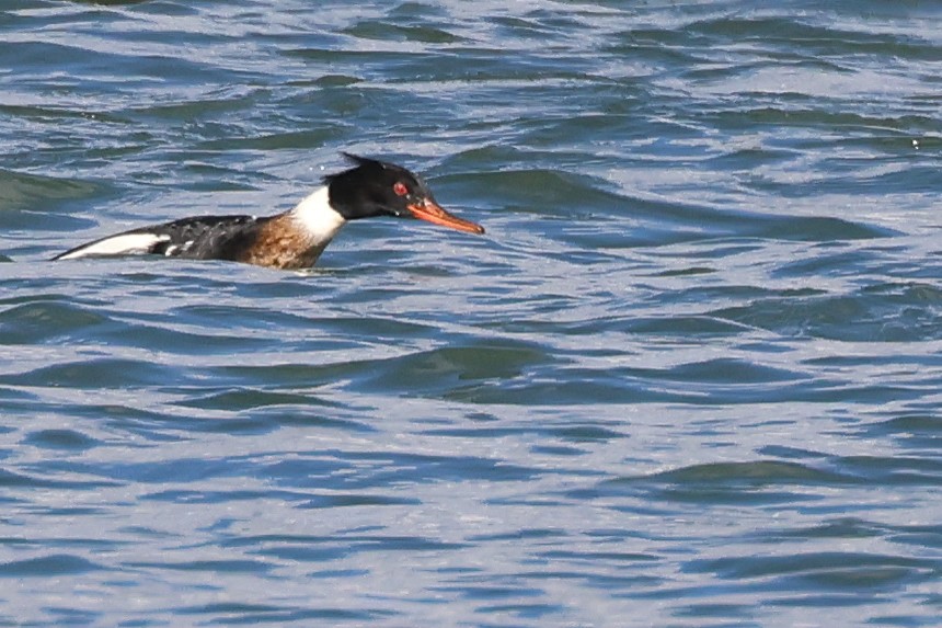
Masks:
[[[483,233],[443,209],[418,176],[394,163],[344,152],[354,167],[324,176],[324,185],[275,216],[198,216],[141,227],[66,251],[54,260],[165,255],[230,260],[275,269],[308,269],[347,220],[393,216]]]

